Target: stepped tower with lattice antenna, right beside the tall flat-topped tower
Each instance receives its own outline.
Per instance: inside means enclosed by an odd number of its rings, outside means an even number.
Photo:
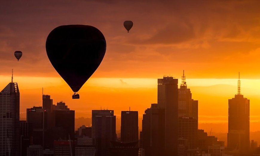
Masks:
[[[184,70],[181,86],[178,89],[178,117],[193,117],[198,120],[198,100],[192,99],[192,93],[187,88]]]

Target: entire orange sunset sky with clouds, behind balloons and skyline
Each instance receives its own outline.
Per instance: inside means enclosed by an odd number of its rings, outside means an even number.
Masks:
[[[76,117],[92,109],[138,110],[157,102],[157,78],[181,82],[185,70],[200,122],[227,122],[228,99],[250,99],[251,121],[259,122],[260,1],[3,1],[0,5],[0,90],[14,81],[21,109],[41,105],[42,87],[53,102],[64,101]],[[129,33],[123,22],[131,20]],[[68,24],[92,25],[107,49],[97,71],[72,100],[72,91],[45,51],[48,34]],[[19,62],[13,52],[20,50]],[[212,87],[210,87],[212,86]],[[252,125],[252,124],[251,124]],[[254,128],[257,130],[257,128]],[[251,129],[252,130],[252,129]],[[260,130],[260,127],[259,127]]]

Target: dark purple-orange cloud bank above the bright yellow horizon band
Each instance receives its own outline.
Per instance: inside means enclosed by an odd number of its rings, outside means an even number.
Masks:
[[[0,68],[2,73],[10,72],[8,65],[26,74],[55,73],[45,41],[55,27],[68,24],[100,29],[107,40],[102,64],[118,70],[124,70],[126,63],[128,69],[138,65],[149,69],[152,62],[160,66],[224,61],[236,52],[248,54],[259,47],[258,6],[257,0],[2,1]],[[134,22],[129,33],[123,27],[125,20]],[[19,64],[13,62],[16,50],[24,53]]]

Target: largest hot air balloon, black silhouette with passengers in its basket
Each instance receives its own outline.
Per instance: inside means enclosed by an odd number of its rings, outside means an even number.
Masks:
[[[72,99],[100,65],[106,50],[105,37],[89,25],[63,25],[53,29],[46,40],[48,58],[74,91]]]

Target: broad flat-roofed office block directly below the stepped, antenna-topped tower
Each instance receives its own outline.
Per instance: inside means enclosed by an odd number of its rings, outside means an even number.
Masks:
[[[187,139],[188,144],[185,146],[185,149],[195,149],[197,147],[197,131],[197,119],[192,117],[179,117],[178,138]]]

